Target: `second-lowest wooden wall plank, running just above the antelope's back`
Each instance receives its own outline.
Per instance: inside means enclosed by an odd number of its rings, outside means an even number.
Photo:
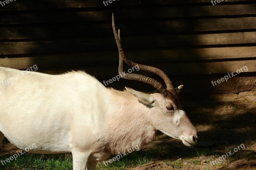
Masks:
[[[31,66],[35,65],[32,64]],[[246,66],[246,72],[256,72],[256,60],[245,61],[201,61],[201,62],[172,62],[172,63],[152,63],[150,66],[154,66],[163,70],[169,76],[184,76],[184,75],[203,75],[203,74],[219,74],[219,73],[232,73],[236,70]],[[103,65],[103,66],[81,66],[81,67],[61,67],[61,68],[46,68],[41,69],[37,66],[39,72],[47,74],[61,74],[63,72],[71,70],[84,70],[88,74],[95,76],[96,78],[112,78],[118,74],[118,64],[116,65]],[[243,72],[245,72],[243,70]],[[128,72],[128,68],[124,68],[125,73]],[[133,73],[140,73],[134,71]],[[144,72],[142,72],[144,74]],[[235,73],[234,73],[235,74]],[[153,76],[152,73],[145,73],[147,76]]]

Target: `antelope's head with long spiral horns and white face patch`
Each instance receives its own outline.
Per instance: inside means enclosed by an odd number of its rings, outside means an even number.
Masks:
[[[114,14],[112,16],[112,27],[116,39],[116,44],[119,51],[119,74],[123,72],[123,61],[134,67],[138,65],[140,70],[149,71],[157,74],[164,79],[166,88],[157,82],[153,78],[149,78],[140,74],[129,73],[123,78],[129,80],[137,80],[144,83],[148,83],[155,87],[161,93],[146,94],[135,91],[130,88],[126,88],[132,95],[137,97],[138,101],[144,104],[150,109],[151,115],[148,115],[149,124],[156,130],[163,132],[164,134],[180,139],[186,146],[192,146],[197,142],[197,131],[196,128],[190,122],[188,116],[182,108],[178,93],[183,85],[177,88],[173,88],[171,80],[168,76],[160,69],[133,63],[124,54],[124,50],[121,45],[120,30],[116,31],[114,22]]]

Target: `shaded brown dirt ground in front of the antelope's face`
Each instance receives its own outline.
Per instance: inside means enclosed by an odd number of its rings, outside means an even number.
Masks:
[[[152,148],[158,151],[155,155],[155,166],[148,169],[216,170],[236,160],[256,160],[255,91],[204,97],[191,95],[183,96],[181,100],[187,115],[198,131],[199,142],[189,148],[181,141],[160,133],[153,142],[143,148],[145,151]],[[240,150],[234,152],[237,146]],[[2,149],[3,154],[19,151],[6,140]],[[211,166],[211,161],[228,152],[232,155],[225,161]],[[256,170],[254,163],[251,162],[250,165],[233,169]]]

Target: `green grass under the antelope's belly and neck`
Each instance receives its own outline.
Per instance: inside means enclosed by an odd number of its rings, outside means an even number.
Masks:
[[[0,160],[10,158],[12,155],[1,156]],[[108,159],[112,159],[116,155],[111,155]],[[107,159],[107,160],[108,160]],[[97,170],[125,170],[127,168],[136,167],[145,163],[151,162],[153,159],[147,157],[147,152],[138,151],[129,153],[129,155],[115,161],[108,166],[103,162],[97,165]],[[0,163],[0,169],[4,170],[72,170],[72,156],[60,155],[41,155],[41,154],[26,154],[12,160],[6,165]]]

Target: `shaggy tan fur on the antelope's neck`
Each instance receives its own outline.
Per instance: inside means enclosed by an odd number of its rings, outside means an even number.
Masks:
[[[143,144],[155,138],[156,129],[150,127],[147,117],[150,108],[140,104],[129,92],[112,92],[113,103],[108,119],[107,148],[111,153],[127,152],[128,149]],[[140,114],[139,114],[140,113]]]

